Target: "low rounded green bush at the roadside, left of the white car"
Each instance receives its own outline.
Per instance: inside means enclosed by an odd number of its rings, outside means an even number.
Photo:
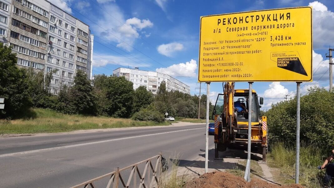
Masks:
[[[165,121],[164,115],[158,112],[153,105],[136,112],[133,114],[132,119],[138,121],[154,121],[157,123]]]

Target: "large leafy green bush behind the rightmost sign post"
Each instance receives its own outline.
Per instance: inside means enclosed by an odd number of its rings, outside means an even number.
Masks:
[[[323,156],[334,145],[334,93],[311,88],[300,100],[300,140],[318,147]],[[268,117],[270,145],[283,142],[288,148],[296,143],[296,98],[272,106]]]

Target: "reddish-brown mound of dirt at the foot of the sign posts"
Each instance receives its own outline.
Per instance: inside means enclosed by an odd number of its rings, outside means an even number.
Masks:
[[[303,188],[301,185],[275,185],[253,178],[246,182],[243,178],[226,172],[211,172],[201,175],[186,184],[186,188]]]

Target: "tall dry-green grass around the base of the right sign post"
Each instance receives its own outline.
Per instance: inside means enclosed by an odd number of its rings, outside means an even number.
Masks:
[[[278,168],[280,175],[275,177],[282,184],[290,184],[295,182],[296,172],[296,151],[288,149],[283,143],[277,143],[268,155],[268,165]],[[321,151],[312,146],[302,144],[300,147],[300,167],[299,167],[299,183],[307,188],[322,187],[321,176],[322,171],[317,166],[322,165],[323,160]]]

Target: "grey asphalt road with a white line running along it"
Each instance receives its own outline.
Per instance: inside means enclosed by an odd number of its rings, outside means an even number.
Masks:
[[[71,187],[159,152],[190,163],[200,149],[205,124],[0,138],[0,187]]]

